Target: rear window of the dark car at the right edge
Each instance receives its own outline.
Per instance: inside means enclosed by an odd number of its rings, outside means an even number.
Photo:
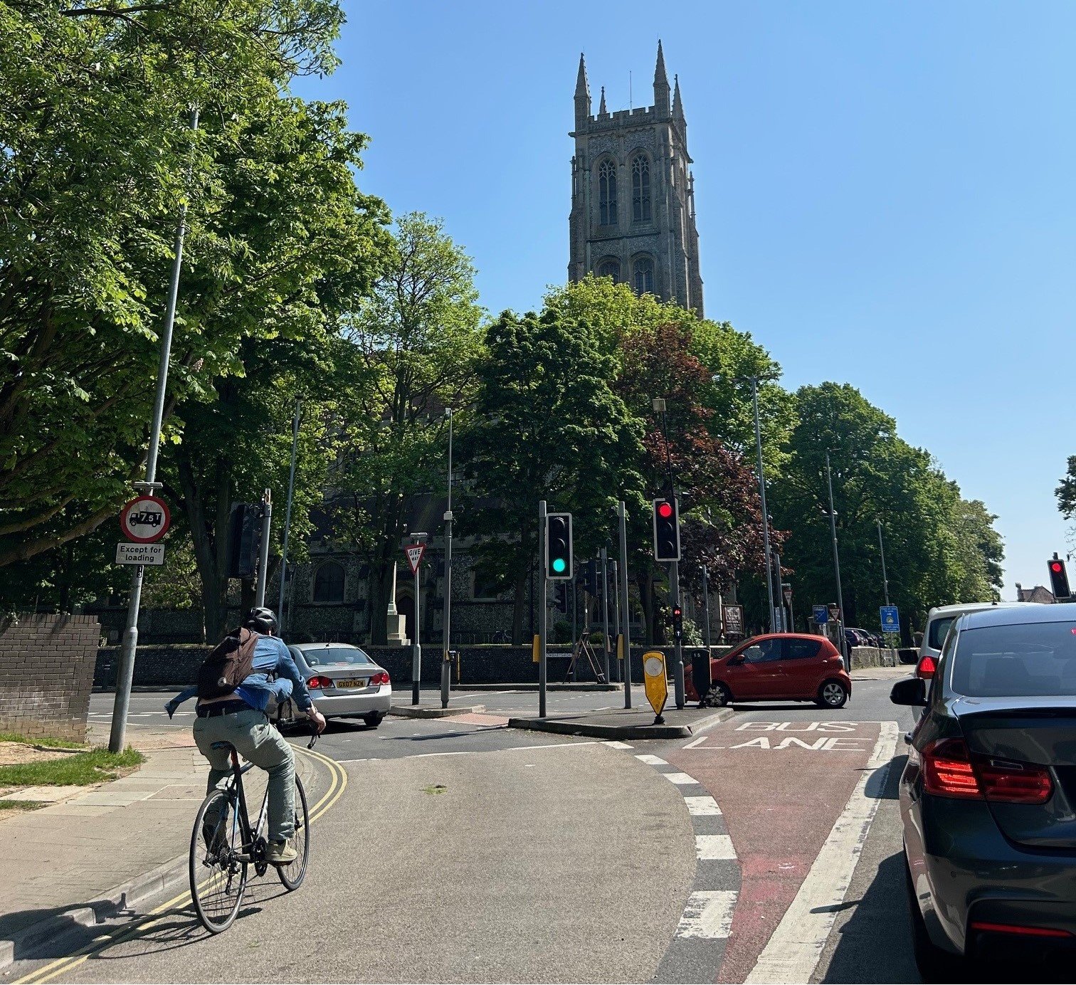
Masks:
[[[952,687],[960,694],[1076,695],[1076,613],[1072,622],[964,630],[952,661]]]

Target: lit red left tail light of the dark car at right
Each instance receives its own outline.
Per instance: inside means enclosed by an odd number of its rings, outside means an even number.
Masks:
[[[1053,796],[1049,770],[1034,763],[972,757],[962,738],[932,742],[922,757],[923,788],[938,797],[1045,804]]]

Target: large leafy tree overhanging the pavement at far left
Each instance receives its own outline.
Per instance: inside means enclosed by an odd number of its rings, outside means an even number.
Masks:
[[[286,94],[332,68],[341,20],[326,0],[0,3],[0,566],[95,529],[141,472],[181,200],[168,412],[237,371],[243,337],[281,330],[267,293],[311,292],[321,261],[298,242],[317,237],[295,210],[259,236],[225,220],[240,186],[287,183],[266,151],[301,140],[297,119],[343,132],[339,108]],[[360,143],[331,143],[322,186],[352,183]]]

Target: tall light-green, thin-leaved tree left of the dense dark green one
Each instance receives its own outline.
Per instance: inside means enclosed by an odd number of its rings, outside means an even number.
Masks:
[[[385,642],[379,617],[407,518],[417,497],[444,489],[444,409],[461,411],[456,426],[466,428],[481,319],[473,265],[443,223],[422,213],[398,219],[381,277],[344,322],[362,382],[341,398],[331,476],[337,545],[368,566],[373,643]]]

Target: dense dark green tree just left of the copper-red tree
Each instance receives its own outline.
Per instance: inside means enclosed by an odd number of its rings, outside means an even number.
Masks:
[[[519,643],[538,552],[538,501],[574,513],[576,558],[593,558],[613,535],[618,501],[634,515],[646,508],[642,428],[613,392],[615,362],[586,321],[555,309],[522,318],[506,311],[485,346],[465,445],[479,498],[465,530],[486,535],[480,557],[513,586]]]

